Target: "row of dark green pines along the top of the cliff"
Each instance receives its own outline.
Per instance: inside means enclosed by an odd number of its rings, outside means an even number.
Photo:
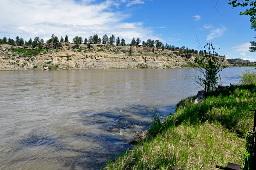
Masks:
[[[99,37],[98,34],[96,35],[91,35],[90,37],[85,38],[83,39],[82,37],[79,37],[79,36],[76,36],[76,37],[73,37],[73,43],[75,44],[82,44],[82,43],[90,43],[90,44],[93,44],[93,43],[102,43],[102,44],[108,44],[108,45],[116,45],[116,46],[135,46],[135,45],[140,45],[141,43],[141,40],[139,37],[137,37],[137,39],[133,38],[131,40],[131,43],[125,43],[125,40],[122,38],[120,39],[119,37],[115,37],[114,35],[111,35],[110,37],[108,37],[108,35],[103,35],[103,37]],[[68,36],[66,35],[64,38],[61,36],[60,39],[58,39],[57,36],[55,36],[54,34],[52,34],[51,38],[49,40],[46,41],[47,44],[49,43],[59,43],[59,42],[66,42],[66,43],[69,43],[69,38]],[[40,46],[41,44],[44,43],[44,40],[41,39],[39,37],[35,37],[34,40],[32,40],[32,38],[30,38],[28,41],[25,41],[23,40],[23,38],[21,37],[16,37],[15,40],[9,38],[7,39],[6,37],[3,37],[3,39],[0,39],[0,44],[10,44],[12,46],[23,46],[23,45],[26,45],[26,46],[33,46],[33,47],[36,47],[36,46]],[[142,45],[147,45],[147,46],[150,46],[150,47],[156,47],[156,48],[159,48],[159,49],[168,49],[168,50],[172,50],[172,51],[179,51],[180,54],[187,54],[187,53],[192,53],[192,54],[198,54],[198,51],[197,50],[194,50],[194,49],[188,49],[186,48],[185,49],[185,46],[182,46],[181,48],[180,47],[175,47],[173,45],[168,45],[167,43],[166,44],[163,44],[160,40],[151,40],[151,39],[148,39],[146,41],[143,41],[142,42]],[[199,51],[199,54],[203,54],[204,52],[203,51]],[[216,54],[218,55],[218,54]]]

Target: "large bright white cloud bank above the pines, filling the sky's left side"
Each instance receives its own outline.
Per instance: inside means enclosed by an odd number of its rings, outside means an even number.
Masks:
[[[145,1],[145,0],[144,0]],[[49,38],[52,34],[68,35],[70,41],[74,36],[88,38],[90,35],[115,35],[130,41],[133,37],[154,37],[152,28],[145,28],[143,23],[125,23],[129,14],[111,9],[117,3],[144,3],[142,0],[1,0],[2,17],[0,34],[24,40],[29,37]],[[12,15],[6,15],[10,14]],[[14,23],[14,24],[13,24]],[[15,32],[15,35],[13,34]],[[46,40],[46,39],[44,39]]]

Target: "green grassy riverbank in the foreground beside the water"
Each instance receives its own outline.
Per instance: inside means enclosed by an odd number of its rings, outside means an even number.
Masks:
[[[143,144],[119,154],[106,170],[215,170],[228,162],[251,164],[256,85],[233,85],[232,93],[209,95],[194,104],[195,96],[177,104],[177,112],[160,123],[153,112],[151,130]]]

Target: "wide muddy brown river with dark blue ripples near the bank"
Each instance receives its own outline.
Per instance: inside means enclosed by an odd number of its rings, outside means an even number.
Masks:
[[[223,84],[244,69],[223,69]],[[168,115],[195,95],[194,75],[195,69],[1,71],[0,167],[99,168],[147,128],[150,109]]]

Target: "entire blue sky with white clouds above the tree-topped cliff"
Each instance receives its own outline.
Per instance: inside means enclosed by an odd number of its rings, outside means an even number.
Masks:
[[[256,32],[246,8],[233,9],[226,0],[1,0],[0,38],[18,35],[43,38],[52,34],[88,38],[107,34],[124,38],[160,40],[174,46],[198,49],[212,43],[227,58],[256,61],[249,52]]]

